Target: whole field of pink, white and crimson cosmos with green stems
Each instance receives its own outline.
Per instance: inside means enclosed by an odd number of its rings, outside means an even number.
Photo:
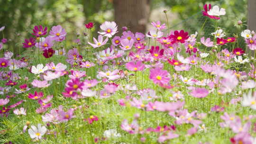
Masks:
[[[72,46],[60,25],[30,29],[20,54],[1,39],[0,144],[256,144],[256,34],[225,15],[204,6],[209,34],[106,21]]]

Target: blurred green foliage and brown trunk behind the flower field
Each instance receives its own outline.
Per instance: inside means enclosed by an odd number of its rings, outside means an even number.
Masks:
[[[32,36],[34,26],[42,25],[49,30],[61,25],[68,33],[67,41],[72,42],[76,34],[86,32],[85,23],[95,24],[95,36],[104,21],[115,21],[119,28],[127,26],[132,32],[146,33],[152,28],[152,21],[167,23],[164,10],[169,22],[165,32],[184,29],[193,34],[205,21],[201,10],[206,3],[226,9],[226,16],[219,20],[226,32],[236,33],[234,25],[238,20],[247,23],[247,0],[0,0],[0,27],[5,26],[0,39],[7,38],[7,46],[15,50],[22,47],[24,38]],[[207,20],[205,33],[214,31],[213,25],[214,21]]]

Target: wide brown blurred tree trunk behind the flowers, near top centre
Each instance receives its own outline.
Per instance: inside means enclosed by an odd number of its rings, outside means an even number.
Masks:
[[[150,0],[114,0],[113,3],[119,31],[128,27],[132,32],[146,32]]]

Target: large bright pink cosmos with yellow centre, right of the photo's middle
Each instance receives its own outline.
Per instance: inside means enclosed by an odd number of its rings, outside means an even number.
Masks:
[[[170,81],[169,73],[160,68],[155,68],[150,70],[149,79],[156,84],[167,84]]]

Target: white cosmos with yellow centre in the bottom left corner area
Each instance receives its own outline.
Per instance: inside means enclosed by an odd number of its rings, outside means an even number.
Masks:
[[[37,127],[32,125],[31,128],[28,129],[28,134],[32,139],[41,139],[43,135],[46,134],[46,126],[41,126],[41,124],[38,124]]]

